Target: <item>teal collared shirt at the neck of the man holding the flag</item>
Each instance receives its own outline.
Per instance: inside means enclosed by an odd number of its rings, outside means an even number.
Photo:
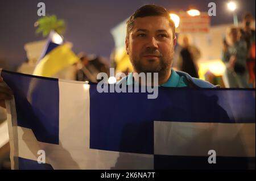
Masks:
[[[130,73],[127,77],[127,85],[133,84],[133,74]],[[138,82],[135,82],[138,85]],[[171,76],[167,82],[159,85],[160,87],[187,87],[188,81],[184,76],[180,76],[174,69],[171,69]]]

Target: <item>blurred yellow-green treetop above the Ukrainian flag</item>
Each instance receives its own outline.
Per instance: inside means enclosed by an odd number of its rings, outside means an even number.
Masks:
[[[52,30],[59,35],[63,35],[66,30],[65,21],[63,19],[57,19],[56,15],[47,15],[39,18],[35,22],[35,27],[38,27],[36,33],[42,33],[43,37],[48,36]]]

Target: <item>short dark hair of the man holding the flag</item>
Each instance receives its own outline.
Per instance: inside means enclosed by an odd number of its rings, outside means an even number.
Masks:
[[[175,24],[171,20],[170,15],[168,11],[162,7],[162,6],[156,6],[156,5],[145,5],[140,7],[138,10],[134,12],[133,15],[130,16],[130,18],[127,20],[126,24],[126,36],[129,36],[129,33],[134,25],[134,19],[136,18],[143,18],[146,16],[163,16],[166,17],[170,23],[170,26],[172,27],[172,37],[175,37]]]

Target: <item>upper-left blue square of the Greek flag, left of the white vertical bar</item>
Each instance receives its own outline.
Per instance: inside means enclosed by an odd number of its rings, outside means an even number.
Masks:
[[[2,77],[14,92],[18,126],[32,129],[38,141],[59,144],[58,80],[5,70]]]

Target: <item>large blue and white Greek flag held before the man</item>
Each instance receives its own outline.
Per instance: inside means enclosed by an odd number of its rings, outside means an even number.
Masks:
[[[255,89],[97,85],[3,70],[12,169],[255,169]],[[45,159],[45,163],[44,163]]]

